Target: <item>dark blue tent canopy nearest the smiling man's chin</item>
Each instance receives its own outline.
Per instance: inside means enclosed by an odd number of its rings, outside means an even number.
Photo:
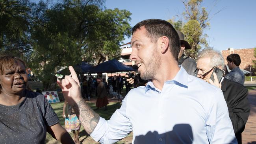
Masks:
[[[90,70],[87,73],[100,73],[100,72],[129,72],[137,71],[132,68],[132,66],[124,65],[123,63],[117,61],[116,59],[111,59],[104,63],[101,63]]]

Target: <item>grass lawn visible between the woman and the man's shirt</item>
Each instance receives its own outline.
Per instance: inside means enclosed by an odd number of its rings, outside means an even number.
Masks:
[[[122,92],[122,94],[125,94],[125,89]],[[95,97],[94,97],[95,98]],[[52,103],[51,106],[54,109],[55,113],[58,115],[61,126],[64,126],[64,118],[62,117],[63,112],[63,103]],[[95,103],[93,102],[87,102],[92,109],[96,109]],[[109,102],[108,104],[108,111],[104,111],[104,107],[96,111],[96,113],[100,114],[102,118],[105,118],[106,120],[109,120],[111,115],[115,112],[116,109],[119,109],[121,107],[121,102]],[[73,138],[73,134],[70,133],[71,137]],[[91,138],[83,129],[83,126],[81,126],[80,133],[79,133],[79,140],[81,144],[99,144],[99,142],[95,142],[93,138]],[[128,142],[132,140],[132,133],[130,133],[126,138],[122,139],[121,141],[117,142],[117,144],[124,144],[125,142]],[[47,144],[60,144],[57,140],[52,138],[50,134],[47,133],[45,143]]]

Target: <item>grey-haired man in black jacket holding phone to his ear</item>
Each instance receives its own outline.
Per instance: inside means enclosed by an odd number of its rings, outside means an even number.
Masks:
[[[224,78],[223,68],[224,59],[220,52],[206,48],[198,53],[195,74],[198,78],[221,88],[237,142],[242,144],[242,132],[250,113],[248,90],[243,85]]]

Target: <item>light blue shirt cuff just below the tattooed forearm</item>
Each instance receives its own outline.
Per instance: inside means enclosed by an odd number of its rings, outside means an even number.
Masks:
[[[98,142],[100,140],[100,138],[103,137],[103,135],[106,132],[106,120],[102,117],[100,117],[100,120],[97,124],[97,126],[95,127],[95,129],[93,130],[93,132],[91,133],[91,137]]]

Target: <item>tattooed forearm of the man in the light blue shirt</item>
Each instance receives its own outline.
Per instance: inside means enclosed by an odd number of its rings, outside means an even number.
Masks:
[[[97,126],[100,116],[83,99],[75,103],[73,109],[85,131],[90,135]]]

